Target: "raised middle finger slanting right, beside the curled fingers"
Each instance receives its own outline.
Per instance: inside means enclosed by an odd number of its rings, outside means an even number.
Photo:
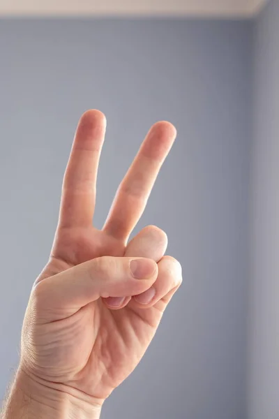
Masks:
[[[169,150],[176,128],[167,121],[154,124],[137,156],[119,185],[103,230],[119,240],[127,240],[144,212],[147,200]]]

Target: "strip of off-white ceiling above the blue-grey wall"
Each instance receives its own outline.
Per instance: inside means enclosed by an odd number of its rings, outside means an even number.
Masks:
[[[0,0],[1,16],[250,17],[268,0]]]

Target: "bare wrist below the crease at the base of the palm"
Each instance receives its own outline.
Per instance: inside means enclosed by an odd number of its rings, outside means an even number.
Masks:
[[[3,419],[99,419],[101,404],[52,388],[19,369]]]

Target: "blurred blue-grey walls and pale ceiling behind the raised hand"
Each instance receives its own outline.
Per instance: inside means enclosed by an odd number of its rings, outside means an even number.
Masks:
[[[144,135],[178,131],[135,233],[183,286],[103,419],[279,415],[279,2],[0,1],[0,396],[82,112],[107,116],[96,226]]]

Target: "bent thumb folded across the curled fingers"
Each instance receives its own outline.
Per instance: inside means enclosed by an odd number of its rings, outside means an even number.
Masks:
[[[151,259],[103,256],[40,281],[33,292],[40,309],[80,309],[99,297],[140,294],[157,276],[158,265]]]

